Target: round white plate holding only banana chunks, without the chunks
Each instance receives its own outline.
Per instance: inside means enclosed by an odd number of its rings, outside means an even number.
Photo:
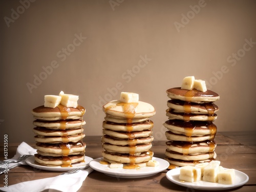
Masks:
[[[181,167],[180,167],[181,168]],[[166,177],[168,180],[172,181],[173,183],[177,185],[181,185],[188,188],[194,188],[194,189],[201,189],[201,190],[226,190],[231,188],[236,188],[239,186],[244,185],[249,180],[249,177],[244,174],[243,172],[240,172],[239,170],[234,170],[236,174],[235,178],[235,184],[232,185],[226,185],[221,183],[212,183],[207,181],[197,181],[197,182],[181,182],[179,179],[180,175],[180,168],[175,168],[172,170],[169,170],[166,173]]]

